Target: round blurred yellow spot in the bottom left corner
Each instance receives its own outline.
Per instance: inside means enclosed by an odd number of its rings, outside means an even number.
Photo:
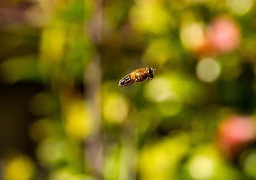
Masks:
[[[6,180],[29,180],[36,172],[36,166],[26,155],[20,155],[8,162]]]

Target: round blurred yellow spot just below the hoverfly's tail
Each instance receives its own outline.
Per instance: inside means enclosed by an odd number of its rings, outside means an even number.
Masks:
[[[106,97],[103,116],[108,122],[123,122],[128,116],[126,99],[118,94],[111,94]]]

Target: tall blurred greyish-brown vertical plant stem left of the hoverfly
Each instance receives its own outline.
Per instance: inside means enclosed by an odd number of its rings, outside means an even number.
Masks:
[[[85,2],[86,3],[86,2]],[[91,16],[89,32],[92,42],[100,44],[102,29],[102,0],[96,0],[96,8]],[[84,24],[84,36],[86,28]],[[88,102],[89,111],[92,114],[91,135],[85,139],[85,165],[92,170],[95,179],[102,179],[103,147],[101,137],[101,107],[100,107],[100,82],[101,82],[101,54],[96,52],[90,64],[85,70],[84,97]]]

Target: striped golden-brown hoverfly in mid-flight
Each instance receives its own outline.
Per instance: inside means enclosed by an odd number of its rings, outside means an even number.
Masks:
[[[130,86],[134,82],[148,82],[149,80],[154,78],[154,72],[155,69],[149,67],[137,69],[130,74],[124,76],[119,81],[118,86]]]

